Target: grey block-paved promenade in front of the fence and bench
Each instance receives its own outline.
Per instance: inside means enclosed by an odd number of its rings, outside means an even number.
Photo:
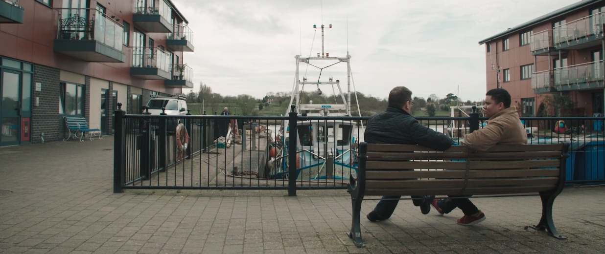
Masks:
[[[362,218],[357,248],[344,190],[113,193],[113,137],[0,148],[0,253],[604,253],[603,186],[566,188],[555,224],[568,240],[525,229],[538,197],[476,198],[488,217],[422,215],[409,200],[390,220]],[[362,212],[376,201],[364,202]]]

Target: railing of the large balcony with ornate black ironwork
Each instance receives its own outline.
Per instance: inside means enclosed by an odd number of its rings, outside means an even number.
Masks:
[[[111,17],[86,8],[63,8],[60,9],[59,15],[57,39],[96,40],[122,51],[124,29],[122,24]]]

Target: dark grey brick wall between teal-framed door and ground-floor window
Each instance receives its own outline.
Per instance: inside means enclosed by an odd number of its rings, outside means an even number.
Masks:
[[[42,91],[33,89],[32,96],[40,98],[40,106],[31,110],[31,142],[41,142],[41,133],[44,133],[45,142],[62,139],[65,124],[59,119],[59,69],[34,65],[33,77],[34,84],[42,84]]]

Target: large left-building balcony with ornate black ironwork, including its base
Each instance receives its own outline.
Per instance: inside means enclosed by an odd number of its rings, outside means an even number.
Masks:
[[[123,31],[121,24],[100,11],[61,9],[53,50],[87,62],[123,63]]]

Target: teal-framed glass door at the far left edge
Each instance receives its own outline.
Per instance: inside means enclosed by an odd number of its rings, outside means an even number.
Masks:
[[[2,99],[0,126],[0,146],[19,145],[19,125],[21,122],[21,74],[14,71],[2,71]]]

